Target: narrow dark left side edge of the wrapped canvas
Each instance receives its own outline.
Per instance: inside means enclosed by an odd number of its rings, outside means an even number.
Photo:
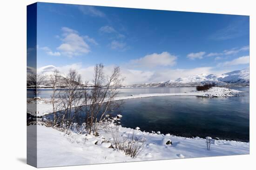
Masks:
[[[37,4],[27,6],[27,164],[37,167]]]

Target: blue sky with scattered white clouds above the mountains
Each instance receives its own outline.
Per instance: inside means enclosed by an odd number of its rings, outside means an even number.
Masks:
[[[77,69],[92,80],[121,67],[124,84],[249,67],[249,16],[37,4],[37,69]]]

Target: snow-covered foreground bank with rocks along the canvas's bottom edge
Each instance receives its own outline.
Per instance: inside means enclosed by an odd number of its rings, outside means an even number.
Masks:
[[[30,136],[33,134],[30,131],[33,131],[34,126],[28,126],[28,138],[33,138]],[[131,136],[134,132],[135,137],[146,139],[138,157],[132,158],[113,148],[106,148],[106,144],[101,143],[102,139],[111,141],[112,138],[111,132],[106,130],[101,130],[100,135],[94,137],[75,132],[67,135],[52,127],[37,125],[38,167],[249,154],[249,143],[245,142],[216,140],[211,145],[210,151],[207,151],[206,139],[176,137],[169,134],[141,132],[121,126],[115,127],[119,128],[121,137]],[[168,139],[171,139],[172,145],[163,142]],[[96,141],[98,142],[95,145]]]

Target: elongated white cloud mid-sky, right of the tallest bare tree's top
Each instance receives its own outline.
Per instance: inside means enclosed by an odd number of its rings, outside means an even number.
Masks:
[[[139,67],[157,67],[157,66],[173,66],[177,57],[168,52],[161,54],[153,53],[145,57],[131,60],[130,63]]]

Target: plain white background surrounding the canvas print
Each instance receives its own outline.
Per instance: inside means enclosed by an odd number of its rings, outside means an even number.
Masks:
[[[2,0],[0,4],[0,169],[35,169],[26,164],[26,6],[35,0]],[[71,4],[165,9],[203,13],[250,15],[250,155],[176,159],[120,164],[46,168],[249,170],[256,168],[254,0],[44,0]],[[50,145],[50,144],[49,144]]]

